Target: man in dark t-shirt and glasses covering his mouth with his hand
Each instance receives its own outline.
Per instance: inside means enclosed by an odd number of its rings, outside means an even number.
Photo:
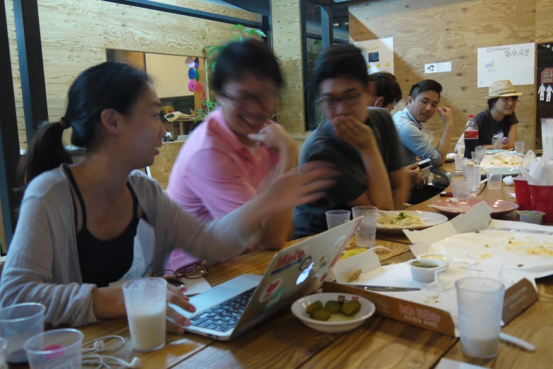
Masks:
[[[314,83],[327,120],[309,135],[299,162],[326,160],[341,176],[324,198],[296,207],[296,237],[326,231],[328,210],[401,209],[411,187],[390,114],[367,108],[376,94],[361,51],[350,44],[327,49],[314,67]]]

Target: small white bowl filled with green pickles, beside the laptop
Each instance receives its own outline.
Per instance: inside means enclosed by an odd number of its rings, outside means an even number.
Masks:
[[[376,306],[361,296],[327,292],[299,298],[291,310],[309,328],[323,333],[342,333],[362,325],[374,315]]]

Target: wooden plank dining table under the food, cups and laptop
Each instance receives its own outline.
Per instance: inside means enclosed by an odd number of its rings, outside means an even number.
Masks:
[[[478,198],[515,200],[508,196],[514,192],[513,187],[504,183],[501,190],[489,190],[484,185],[481,190]],[[435,212],[428,205],[441,199],[444,198],[438,195],[410,210]],[[502,219],[518,220],[515,213]],[[291,241],[287,246],[295,243]],[[405,262],[414,258],[408,243],[404,236],[378,234],[376,246],[391,251],[377,249],[375,253],[382,265]],[[256,251],[210,266],[207,280],[211,286],[217,286],[240,274],[263,274],[274,254],[275,251]],[[125,318],[81,327],[81,331],[85,341],[109,334],[124,337],[125,346],[114,354],[129,361],[138,356],[141,368],[434,368],[441,358],[487,368],[553,368],[553,319],[549,315],[553,311],[553,277],[536,282],[539,301],[502,331],[529,341],[537,350],[531,353],[501,342],[499,353],[489,360],[465,356],[459,339],[378,315],[351,332],[324,334],[305,326],[287,309],[232,341],[216,341],[191,333],[167,334],[167,344],[151,353],[132,350]]]

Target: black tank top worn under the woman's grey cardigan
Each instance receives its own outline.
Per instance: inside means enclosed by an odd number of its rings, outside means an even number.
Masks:
[[[81,195],[81,191],[79,191],[75,177],[73,177],[69,167],[64,165],[64,169],[81,203],[81,210],[83,212],[83,227],[76,234],[78,262],[81,267],[83,283],[107,287],[109,283],[118,281],[131,269],[134,256],[134,236],[136,236],[136,229],[140,220],[138,218],[138,199],[133,188],[127,182],[126,186],[129,187],[133,197],[133,219],[131,219],[131,223],[121,235],[112,240],[102,241],[93,236],[87,229],[83,195]],[[74,198],[73,213],[75,214],[75,231],[77,231],[78,217]]]

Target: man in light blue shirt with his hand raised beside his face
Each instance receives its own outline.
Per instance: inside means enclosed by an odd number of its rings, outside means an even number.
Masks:
[[[430,159],[434,167],[444,165],[453,131],[453,114],[448,107],[438,107],[441,85],[435,80],[422,80],[412,85],[407,98],[407,107],[393,116],[400,143],[405,152],[405,164],[414,164],[417,157]],[[436,110],[445,123],[438,145],[432,143],[422,133],[426,123]]]

